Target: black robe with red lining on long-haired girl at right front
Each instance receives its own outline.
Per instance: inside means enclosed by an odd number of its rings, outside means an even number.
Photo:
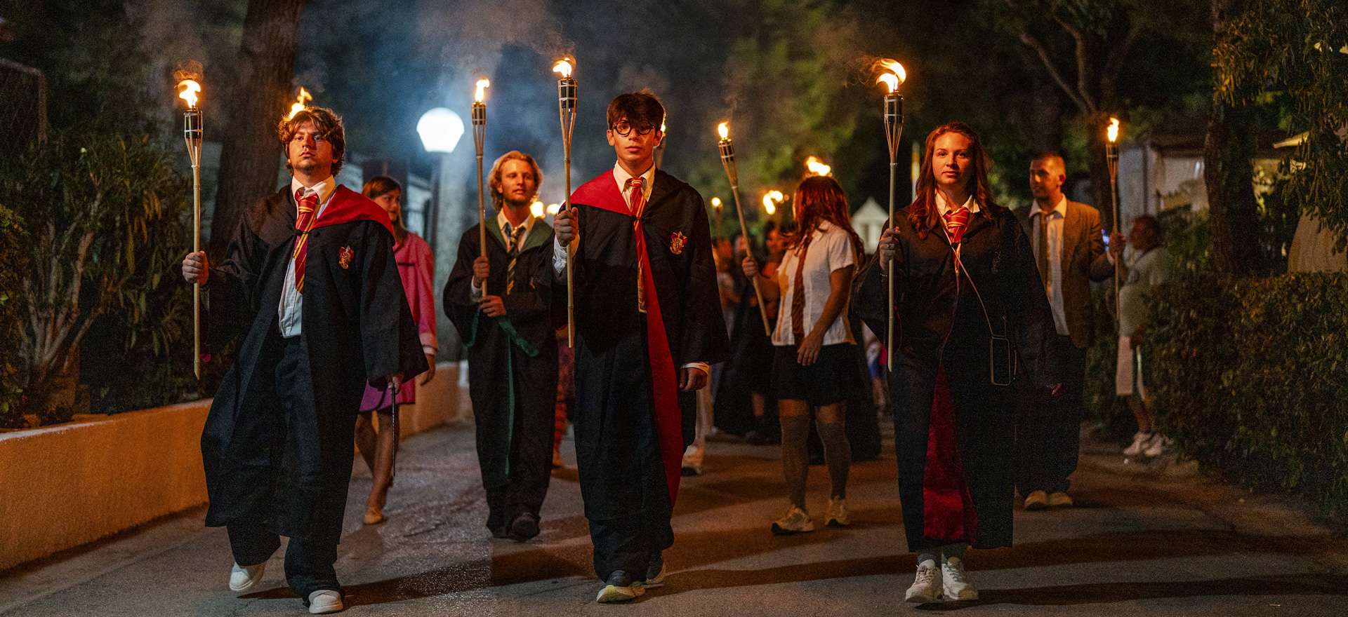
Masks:
[[[1011,210],[989,206],[969,218],[957,269],[942,229],[922,238],[907,209],[896,217],[888,380],[909,550],[1011,546],[1015,411],[1051,383],[1041,366],[1053,315],[1034,252]],[[884,337],[887,303],[876,253],[856,279],[852,310]],[[1019,358],[1011,385],[992,384],[989,327]]]

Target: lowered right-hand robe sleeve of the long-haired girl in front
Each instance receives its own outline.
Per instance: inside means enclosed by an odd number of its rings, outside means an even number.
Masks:
[[[1037,391],[1050,384],[1058,384],[1058,376],[1051,375],[1054,362],[1049,362],[1049,333],[1055,331],[1053,308],[1049,296],[1043,294],[1043,280],[1035,265],[1030,237],[1015,221],[1014,216],[1003,226],[1003,255],[1011,257],[1002,278],[1006,298],[1007,318],[1015,329],[1016,353],[1024,364],[1030,385]]]

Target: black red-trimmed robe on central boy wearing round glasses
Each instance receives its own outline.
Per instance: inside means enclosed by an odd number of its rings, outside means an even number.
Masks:
[[[572,203],[580,217],[574,422],[585,517],[646,513],[667,527],[697,422],[697,393],[678,391],[678,370],[729,354],[710,224],[702,197],[659,170],[640,216],[630,213],[612,171],[577,189]],[[663,469],[652,469],[640,443],[659,445]]]

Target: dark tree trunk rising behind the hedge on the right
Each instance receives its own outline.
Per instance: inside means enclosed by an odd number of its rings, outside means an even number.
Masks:
[[[1212,0],[1213,43],[1220,46],[1227,24],[1243,0]],[[1213,102],[1204,140],[1202,181],[1212,220],[1212,263],[1223,276],[1247,276],[1258,252],[1258,202],[1254,190],[1254,119],[1243,106]]]

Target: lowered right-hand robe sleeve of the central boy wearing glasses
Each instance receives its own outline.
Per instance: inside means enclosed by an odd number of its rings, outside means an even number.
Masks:
[[[693,237],[687,249],[693,251],[687,282],[683,286],[683,323],[679,331],[682,357],[674,358],[674,366],[687,362],[716,364],[731,354],[729,335],[725,333],[725,317],[721,313],[721,292],[716,282],[716,261],[712,257],[712,225],[706,218],[702,197],[687,190],[693,217]]]

